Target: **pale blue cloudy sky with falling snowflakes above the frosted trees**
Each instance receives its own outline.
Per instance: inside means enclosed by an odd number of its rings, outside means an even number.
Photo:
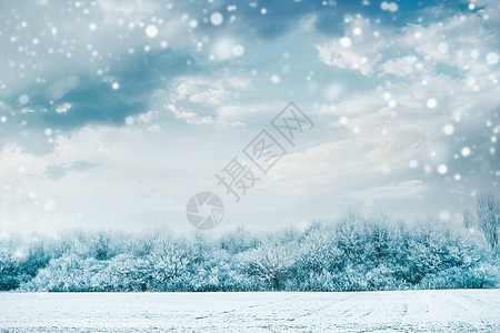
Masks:
[[[191,231],[206,191],[218,231],[460,223],[499,193],[498,31],[497,0],[2,0],[0,234]]]

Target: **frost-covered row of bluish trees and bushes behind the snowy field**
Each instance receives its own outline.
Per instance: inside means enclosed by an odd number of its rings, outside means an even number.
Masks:
[[[461,226],[350,212],[306,229],[72,232],[0,240],[0,290],[377,291],[499,286],[499,200]]]

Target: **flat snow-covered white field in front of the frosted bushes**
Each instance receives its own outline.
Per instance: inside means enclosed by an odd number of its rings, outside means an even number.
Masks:
[[[500,332],[500,290],[0,293],[0,331]]]

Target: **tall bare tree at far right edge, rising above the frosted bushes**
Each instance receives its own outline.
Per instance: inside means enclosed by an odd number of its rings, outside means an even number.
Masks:
[[[500,230],[500,200],[493,193],[478,195],[478,226],[492,249],[497,249]]]

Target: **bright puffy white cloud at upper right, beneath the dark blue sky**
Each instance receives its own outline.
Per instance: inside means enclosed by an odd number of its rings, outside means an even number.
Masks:
[[[352,69],[363,75],[394,74],[403,77],[412,72],[432,73],[436,64],[453,67],[472,75],[484,74],[490,69],[487,63],[489,52],[498,52],[500,42],[494,32],[484,29],[490,22],[500,21],[493,11],[498,3],[489,3],[487,9],[457,14],[446,21],[429,26],[412,24],[401,30],[380,28],[377,37],[354,36],[354,27],[362,31],[374,31],[374,26],[361,18],[350,19],[344,34],[352,44],[342,47],[337,40],[316,46],[319,59],[328,65]],[[408,56],[394,57],[398,53]]]

